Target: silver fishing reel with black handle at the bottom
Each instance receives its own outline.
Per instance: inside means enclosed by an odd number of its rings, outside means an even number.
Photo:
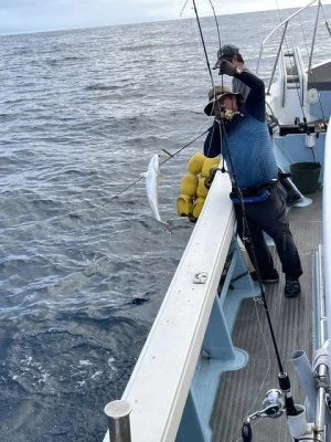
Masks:
[[[282,415],[285,412],[285,394],[273,388],[267,391],[267,394],[263,401],[263,409],[259,411],[255,411],[253,414],[247,415],[243,423],[242,436],[244,442],[252,441],[252,428],[250,421],[257,418],[271,418],[277,419]]]

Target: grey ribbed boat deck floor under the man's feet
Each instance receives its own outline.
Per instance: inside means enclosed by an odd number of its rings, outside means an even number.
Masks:
[[[313,201],[305,208],[292,208],[291,231],[301,256],[303,275],[300,277],[301,296],[288,299],[284,296],[284,275],[275,246],[271,246],[280,281],[268,284],[266,299],[284,370],[289,375],[296,403],[303,404],[305,392],[291,360],[296,350],[305,350],[312,357],[312,281],[313,254],[322,243],[322,191],[309,196]],[[248,414],[263,409],[263,400],[271,388],[279,388],[279,368],[270,338],[264,306],[247,298],[243,301],[233,332],[233,343],[249,355],[247,365],[222,376],[214,412],[211,419],[214,442],[242,441],[242,425]],[[253,440],[285,441],[292,439],[286,417],[256,419],[250,422]]]

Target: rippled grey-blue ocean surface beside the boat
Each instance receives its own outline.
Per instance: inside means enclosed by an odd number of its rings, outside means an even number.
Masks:
[[[221,43],[254,70],[278,22],[278,11],[220,17]],[[201,24],[213,66],[215,20]],[[305,18],[293,35],[310,46]],[[104,407],[120,399],[194,229],[175,199],[204,137],[182,148],[211,124],[207,63],[192,19],[0,43],[0,440],[102,441]],[[173,234],[140,176],[156,152]]]

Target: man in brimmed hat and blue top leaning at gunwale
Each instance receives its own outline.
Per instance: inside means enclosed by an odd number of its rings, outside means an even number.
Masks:
[[[214,116],[213,126],[204,143],[204,155],[222,155],[233,183],[231,198],[235,206],[237,230],[245,242],[246,225],[243,204],[252,238],[257,266],[263,282],[277,282],[278,272],[264,238],[273,238],[285,273],[285,296],[301,293],[299,276],[302,274],[297,246],[289,229],[286,202],[278,181],[278,167],[271,148],[265,118],[265,85],[256,75],[238,70],[223,60],[220,73],[241,80],[250,88],[246,101],[241,92],[216,86],[209,93],[204,112]],[[248,249],[250,259],[252,250]]]

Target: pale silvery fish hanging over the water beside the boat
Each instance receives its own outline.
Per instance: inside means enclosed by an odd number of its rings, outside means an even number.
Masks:
[[[159,221],[169,232],[169,225],[167,222],[161,220],[159,213],[159,179],[160,179],[160,162],[159,162],[159,154],[152,156],[149,161],[148,169],[146,173],[142,173],[146,177],[146,196],[147,201],[149,203],[152,215],[157,221]]]

